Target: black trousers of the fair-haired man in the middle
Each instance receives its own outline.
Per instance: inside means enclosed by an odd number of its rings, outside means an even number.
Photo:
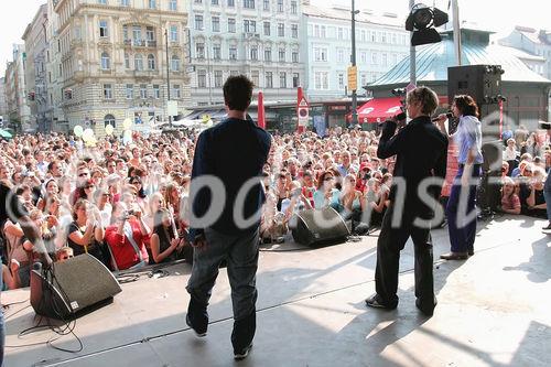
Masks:
[[[432,274],[432,241],[430,229],[413,226],[418,213],[414,206],[406,206],[400,226],[392,228],[395,203],[391,203],[382,218],[377,241],[377,268],[375,289],[389,307],[398,305],[398,268],[400,251],[408,238],[413,240],[415,251],[415,296],[422,306],[434,306],[434,279]]]

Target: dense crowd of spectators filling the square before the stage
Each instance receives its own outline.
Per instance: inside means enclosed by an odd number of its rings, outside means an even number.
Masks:
[[[94,147],[55,132],[14,137],[1,142],[0,181],[19,196],[56,261],[89,253],[114,271],[192,261],[186,203],[198,133],[134,133],[130,143],[107,137]],[[302,209],[332,207],[358,235],[379,225],[395,168],[395,158],[377,158],[379,138],[376,131],[342,128],[324,138],[273,136],[262,173],[261,239],[282,241]],[[520,128],[506,138],[503,212],[547,217],[549,136],[541,141]],[[369,223],[363,222],[366,211]],[[26,287],[33,244],[20,224],[0,225],[3,285]]]

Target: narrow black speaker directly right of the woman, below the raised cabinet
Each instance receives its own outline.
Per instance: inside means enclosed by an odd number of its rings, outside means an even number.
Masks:
[[[476,193],[476,204],[483,211],[496,211],[501,202],[500,177],[503,143],[499,140],[483,144],[482,177]]]

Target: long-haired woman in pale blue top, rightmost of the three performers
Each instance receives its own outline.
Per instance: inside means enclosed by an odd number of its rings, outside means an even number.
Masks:
[[[475,209],[476,187],[480,177],[480,166],[484,162],[482,155],[482,128],[478,120],[478,106],[473,97],[467,95],[455,96],[452,104],[453,115],[460,119],[457,131],[449,134],[460,148],[457,159],[460,169],[455,176],[450,198],[447,199],[446,217],[450,231],[451,252],[442,255],[444,260],[465,260],[474,255],[476,235]],[[445,132],[444,122],[446,115],[439,116],[437,125]],[[466,211],[460,211],[462,197],[467,195]],[[468,218],[466,218],[468,216]]]

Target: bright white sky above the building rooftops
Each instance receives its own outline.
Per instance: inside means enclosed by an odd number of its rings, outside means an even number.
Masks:
[[[188,0],[187,0],[188,1]],[[260,0],[258,0],[260,1]],[[375,11],[390,11],[406,14],[409,12],[409,0],[355,0],[358,9],[369,8]],[[0,76],[4,75],[6,63],[12,58],[12,44],[23,43],[21,36],[26,25],[33,20],[39,6],[45,0],[2,0],[4,7],[0,11]],[[352,0],[311,0],[313,4],[331,6],[334,3],[350,4]],[[518,2],[503,0],[458,0],[460,19],[476,22],[478,25],[507,33],[515,25],[548,29],[551,31],[551,1],[522,0]],[[9,3],[9,6],[7,6]],[[425,0],[428,6],[446,11],[449,0]]]

